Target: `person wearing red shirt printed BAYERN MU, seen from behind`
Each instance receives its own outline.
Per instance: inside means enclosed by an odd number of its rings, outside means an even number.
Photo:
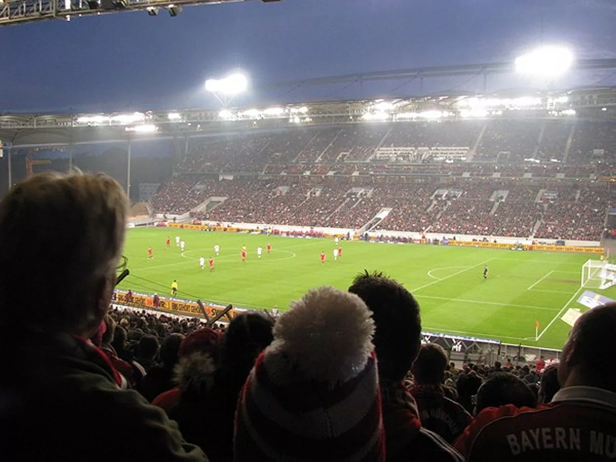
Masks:
[[[561,389],[537,409],[487,408],[456,440],[469,461],[603,461],[616,455],[616,304],[573,326],[558,367]]]

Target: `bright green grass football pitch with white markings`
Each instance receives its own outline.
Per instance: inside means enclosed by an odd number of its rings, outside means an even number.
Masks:
[[[185,254],[175,245],[179,235],[186,243]],[[171,248],[165,248],[166,237]],[[257,259],[256,248],[272,244]],[[214,245],[221,254],[214,257],[216,270],[201,270],[198,260],[213,256]],[[248,247],[248,259],[241,262],[240,248]],[[154,258],[147,257],[152,246]],[[343,242],[344,252],[333,260],[333,240],[267,237],[197,230],[132,229],[124,254],[131,275],[121,288],[144,293],[170,294],[177,279],[179,297],[238,307],[283,310],[309,288],[331,285],[346,289],[363,269],[380,270],[410,290],[421,304],[423,329],[432,332],[467,334],[560,348],[569,325],[560,317],[576,303],[582,264],[588,254],[519,252],[457,246],[389,245]],[[319,254],[325,250],[322,265]],[[484,264],[490,272],[482,277]],[[616,298],[616,287],[603,291]],[[535,322],[540,322],[535,341]]]

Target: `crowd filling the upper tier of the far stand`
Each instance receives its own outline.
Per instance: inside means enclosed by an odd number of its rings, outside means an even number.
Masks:
[[[485,130],[484,130],[485,128]],[[411,155],[409,149],[458,147],[477,150],[473,161],[492,162],[491,166],[470,164],[466,171],[483,175],[521,176],[532,172],[544,176],[556,173],[575,175],[572,166],[594,164],[590,172],[604,169],[614,160],[616,131],[611,122],[564,120],[492,120],[410,122],[389,124],[350,124],[342,127],[294,128],[277,132],[190,139],[188,153],[177,165],[180,172],[286,171],[289,164],[325,164],[327,171],[360,171],[370,160],[378,168],[395,164],[402,172],[414,169],[412,163],[435,162],[432,156]],[[483,133],[483,134],[482,134]],[[480,134],[481,137],[480,137]],[[565,158],[567,144],[569,156]],[[402,148],[406,156],[376,158],[376,148]],[[406,160],[402,164],[400,161]],[[442,163],[445,158],[440,158]],[[536,164],[535,161],[540,161]],[[463,161],[456,160],[456,163]],[[348,164],[353,164],[348,166]],[[439,163],[439,161],[436,161]],[[500,165],[499,165],[500,164]],[[513,164],[509,172],[504,164]],[[352,172],[351,171],[351,172]],[[571,172],[571,175],[568,174]],[[453,169],[449,168],[449,173]]]

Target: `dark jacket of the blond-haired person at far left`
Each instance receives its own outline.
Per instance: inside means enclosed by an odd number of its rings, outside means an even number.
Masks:
[[[0,348],[2,460],[206,461],[160,408],[120,390],[102,351],[70,336]]]

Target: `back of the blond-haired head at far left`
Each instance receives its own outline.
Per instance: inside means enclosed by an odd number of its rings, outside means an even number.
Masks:
[[[44,173],[13,187],[0,201],[0,325],[80,333],[100,322],[127,209],[104,174]]]

